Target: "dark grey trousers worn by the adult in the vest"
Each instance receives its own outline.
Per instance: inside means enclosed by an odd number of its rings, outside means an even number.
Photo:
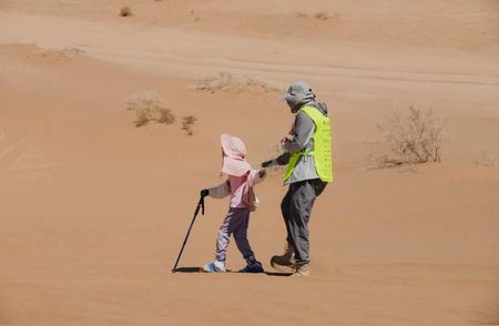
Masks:
[[[295,261],[298,264],[310,261],[308,221],[315,198],[320,195],[326,185],[327,183],[319,179],[292,183],[281,203],[287,231],[286,241],[295,249]]]

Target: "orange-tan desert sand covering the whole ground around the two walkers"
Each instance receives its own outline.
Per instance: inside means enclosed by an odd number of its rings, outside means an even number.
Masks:
[[[220,134],[272,157],[297,79],[334,126],[312,276],[172,274]],[[143,91],[175,123],[136,128]],[[0,0],[0,325],[499,325],[497,1]],[[442,161],[373,169],[410,105],[446,120]],[[285,191],[272,173],[251,222],[269,272]],[[182,267],[213,258],[226,206],[207,200]]]

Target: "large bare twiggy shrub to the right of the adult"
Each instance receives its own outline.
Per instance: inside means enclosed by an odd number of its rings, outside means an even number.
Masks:
[[[378,167],[440,162],[444,126],[431,108],[394,112],[378,124],[383,141],[376,143],[373,160]]]

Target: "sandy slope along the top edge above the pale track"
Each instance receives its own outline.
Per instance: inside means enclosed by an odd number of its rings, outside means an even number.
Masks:
[[[313,35],[319,43],[335,40],[497,50],[499,28],[495,0],[3,0],[0,6],[35,14],[307,43]],[[125,6],[132,9],[133,19],[118,17]]]

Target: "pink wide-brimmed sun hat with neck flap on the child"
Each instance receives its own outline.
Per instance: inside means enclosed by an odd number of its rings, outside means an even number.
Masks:
[[[243,176],[252,170],[246,162],[246,146],[238,137],[230,134],[220,136],[223,151],[222,172],[234,176]]]

